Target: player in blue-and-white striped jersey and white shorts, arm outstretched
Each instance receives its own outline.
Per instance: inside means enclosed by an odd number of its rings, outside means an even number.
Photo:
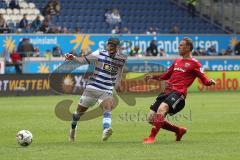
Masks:
[[[66,55],[66,60],[82,64],[95,63],[93,75],[90,76],[87,86],[80,98],[76,112],[73,114],[69,140],[76,137],[77,122],[89,107],[98,103],[103,110],[103,135],[106,141],[112,135],[111,111],[115,105],[113,98],[114,86],[117,87],[121,80],[123,66],[127,57],[120,53],[120,41],[110,38],[106,50],[96,50],[83,58],[76,58],[72,54]]]

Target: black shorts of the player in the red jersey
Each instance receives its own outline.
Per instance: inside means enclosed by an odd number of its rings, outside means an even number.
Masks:
[[[160,93],[156,98],[155,102],[151,105],[150,109],[154,112],[157,112],[160,104],[164,102],[169,106],[168,113],[174,115],[177,112],[181,111],[185,106],[185,97],[184,95],[178,92]]]

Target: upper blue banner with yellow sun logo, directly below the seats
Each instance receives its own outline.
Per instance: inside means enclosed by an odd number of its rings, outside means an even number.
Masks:
[[[107,39],[112,35],[95,34],[69,34],[69,35],[1,35],[0,54],[4,51],[12,51],[17,47],[22,38],[29,38],[31,43],[38,47],[40,53],[52,50],[56,45],[61,46],[64,53],[76,50],[96,50],[104,48]],[[214,45],[217,52],[234,46],[239,40],[240,35],[118,35],[121,40],[130,41],[132,46],[139,46],[142,51],[146,51],[152,40],[157,41],[158,49],[164,49],[167,54],[177,54],[180,40],[189,36],[195,42],[195,47],[209,48]]]

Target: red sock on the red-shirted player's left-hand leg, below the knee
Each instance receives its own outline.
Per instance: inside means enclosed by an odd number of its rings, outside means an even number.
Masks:
[[[149,137],[155,138],[158,134],[160,128],[162,127],[164,122],[164,116],[162,114],[157,114],[153,119],[153,127],[151,129],[151,133]]]

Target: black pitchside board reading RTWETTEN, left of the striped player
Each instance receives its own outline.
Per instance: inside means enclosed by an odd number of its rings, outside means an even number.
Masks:
[[[0,96],[80,94],[86,80],[80,74],[0,75]]]

